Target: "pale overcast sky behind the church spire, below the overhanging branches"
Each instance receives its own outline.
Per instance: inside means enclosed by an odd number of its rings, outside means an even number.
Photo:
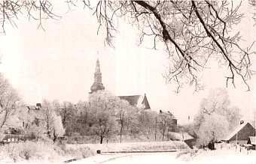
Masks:
[[[252,10],[246,3],[241,8],[245,18],[236,29],[241,30],[244,43],[250,43],[255,26]],[[139,46],[136,27],[120,21],[113,49],[104,45],[103,34],[96,34],[98,23],[90,10],[74,7],[65,13],[67,8],[62,5],[56,10],[63,17],[44,22],[46,31],[38,30],[35,22],[20,19],[18,28],[7,26],[7,34],[0,37],[0,71],[26,103],[35,104],[43,99],[73,103],[87,100],[96,58],[108,91],[116,95],[146,93],[152,109],[173,112],[181,124],[187,121],[187,115],[197,112],[209,89],[225,87],[226,68],[213,64],[212,69],[203,73],[204,91],[194,93],[194,88],[186,87],[175,94],[175,85],[166,85],[162,76],[167,63],[165,52],[149,49],[149,44]],[[249,82],[250,92],[245,91],[245,86],[228,88],[231,103],[239,106],[244,118],[249,118],[255,108],[254,79]]]

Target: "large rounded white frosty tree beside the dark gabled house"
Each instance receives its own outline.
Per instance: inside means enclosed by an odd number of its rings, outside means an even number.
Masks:
[[[200,110],[194,119],[194,131],[199,144],[214,144],[239,124],[239,109],[230,107],[227,91],[217,88],[210,91],[209,97],[202,100]]]

